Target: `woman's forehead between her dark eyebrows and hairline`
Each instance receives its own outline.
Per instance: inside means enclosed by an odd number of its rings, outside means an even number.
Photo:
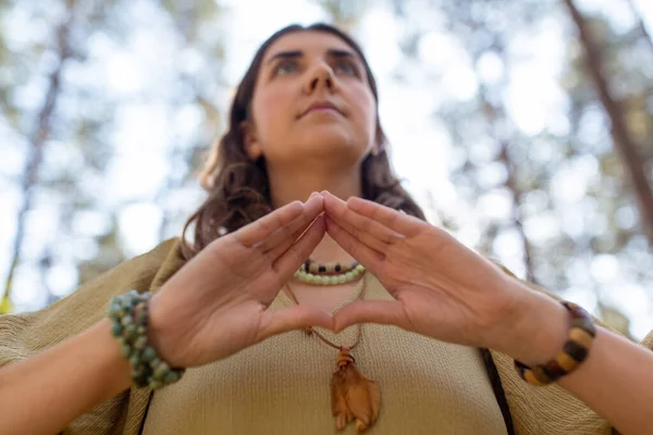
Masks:
[[[328,50],[337,49],[350,51],[360,59],[356,51],[340,37],[316,30],[293,32],[276,39],[268,48],[263,62],[281,51],[299,50],[305,55],[323,55]]]

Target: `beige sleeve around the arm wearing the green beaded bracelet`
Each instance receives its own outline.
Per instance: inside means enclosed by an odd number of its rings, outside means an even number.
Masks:
[[[109,300],[132,288],[150,288],[172,247],[165,241],[82,285],[70,296],[36,312],[0,316],[0,366],[27,359],[87,330],[104,316]],[[131,390],[75,419],[64,434],[122,434]]]

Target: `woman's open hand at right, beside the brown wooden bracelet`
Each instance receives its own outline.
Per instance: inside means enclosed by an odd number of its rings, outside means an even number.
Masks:
[[[560,349],[567,314],[550,297],[442,228],[372,201],[322,195],[331,237],[396,299],[344,307],[335,316],[337,331],[355,323],[393,324],[525,361],[549,355],[547,360]]]

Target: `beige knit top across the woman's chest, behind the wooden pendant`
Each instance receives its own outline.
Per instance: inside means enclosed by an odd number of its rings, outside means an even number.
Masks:
[[[347,345],[355,327],[337,336]],[[505,434],[477,349],[394,326],[365,325],[359,370],[381,388],[368,434]],[[334,434],[330,380],[337,351],[294,331],[186,372],[155,394],[144,434]],[[354,425],[343,431],[354,434]]]

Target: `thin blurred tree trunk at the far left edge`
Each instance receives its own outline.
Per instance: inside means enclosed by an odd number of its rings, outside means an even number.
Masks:
[[[16,236],[14,238],[12,247],[9,274],[4,284],[4,293],[2,295],[2,298],[0,299],[0,314],[4,314],[4,312],[2,311],[8,311],[11,307],[10,298],[12,284],[16,268],[21,262],[21,250],[23,247],[23,241],[25,239],[25,221],[27,217],[27,212],[32,209],[33,206],[34,188],[38,184],[38,172],[44,159],[44,145],[50,134],[50,122],[52,120],[52,114],[54,113],[54,108],[57,107],[57,100],[59,99],[59,95],[61,92],[61,73],[67,59],[72,57],[69,34],[74,15],[74,1],[66,1],[66,5],[67,16],[64,20],[64,22],[57,28],[59,63],[50,74],[48,80],[49,86],[48,92],[46,95],[46,101],[37,117],[38,121],[36,129],[30,140],[29,157],[27,159],[25,172],[21,182],[21,188],[23,191],[23,203],[19,209]]]

